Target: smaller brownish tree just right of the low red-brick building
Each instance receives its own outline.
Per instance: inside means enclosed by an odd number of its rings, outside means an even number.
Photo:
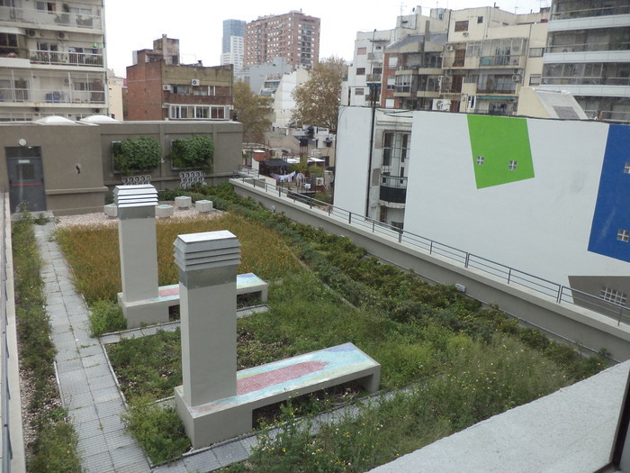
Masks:
[[[243,123],[244,142],[262,142],[271,128],[271,97],[257,96],[245,82],[234,84],[234,112]]]

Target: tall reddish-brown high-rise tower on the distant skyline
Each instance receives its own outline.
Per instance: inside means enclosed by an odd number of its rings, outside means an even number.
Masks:
[[[293,68],[312,68],[320,59],[320,18],[292,11],[261,16],[245,25],[243,64],[284,58]]]

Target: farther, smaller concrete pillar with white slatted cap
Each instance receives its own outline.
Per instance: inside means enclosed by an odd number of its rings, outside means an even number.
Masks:
[[[157,190],[150,184],[116,186],[122,301],[157,297]]]

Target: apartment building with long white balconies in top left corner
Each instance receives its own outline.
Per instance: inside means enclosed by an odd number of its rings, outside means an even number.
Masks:
[[[0,2],[0,121],[107,114],[103,0]]]

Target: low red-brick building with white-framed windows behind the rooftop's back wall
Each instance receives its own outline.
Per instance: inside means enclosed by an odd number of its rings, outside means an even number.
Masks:
[[[127,68],[128,120],[229,120],[233,66],[180,64],[179,40],[153,41]]]

